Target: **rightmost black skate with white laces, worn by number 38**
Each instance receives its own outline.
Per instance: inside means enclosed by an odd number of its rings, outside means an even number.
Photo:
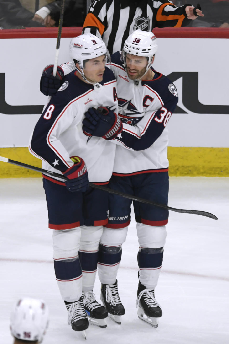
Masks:
[[[138,318],[153,327],[158,327],[157,318],[162,316],[162,310],[155,299],[154,289],[146,289],[146,287],[139,282],[137,296],[136,307],[138,307]]]

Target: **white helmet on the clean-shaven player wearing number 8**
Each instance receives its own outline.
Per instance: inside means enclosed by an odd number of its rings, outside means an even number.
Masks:
[[[84,79],[84,60],[90,60],[91,58],[99,57],[103,54],[106,56],[106,63],[110,60],[110,54],[106,49],[105,43],[99,37],[92,35],[91,33],[84,33],[83,35],[72,38],[69,51],[71,60],[74,63],[74,60],[79,63],[81,71],[78,68],[76,69]]]

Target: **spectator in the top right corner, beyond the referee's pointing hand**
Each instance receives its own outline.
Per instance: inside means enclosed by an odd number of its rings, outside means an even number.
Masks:
[[[186,0],[173,1],[176,6],[186,4]],[[204,18],[198,17],[190,25],[193,28],[229,28],[229,0],[200,0]]]

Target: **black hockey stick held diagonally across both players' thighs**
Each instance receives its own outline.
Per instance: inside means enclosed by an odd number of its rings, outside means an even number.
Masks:
[[[8,162],[10,164],[13,164],[13,165],[16,165],[16,166],[21,166],[21,167],[24,167],[24,168],[27,168],[29,170],[33,170],[33,171],[36,171],[36,172],[42,172],[42,173],[48,174],[48,175],[53,176],[53,177],[58,177],[58,178],[63,179],[63,180],[67,179],[62,174],[51,172],[51,171],[47,171],[47,170],[44,170],[44,169],[40,169],[39,167],[32,166],[32,165],[27,165],[27,164],[24,164],[23,162],[11,160],[11,159],[4,158],[4,157],[1,157],[1,156],[0,156],[0,161]],[[133,196],[133,195],[128,195],[128,194],[125,194],[124,192],[121,192],[121,191],[107,189],[105,186],[102,186],[102,185],[96,185],[96,184],[93,184],[93,183],[89,183],[89,186],[93,187],[94,189],[104,190],[104,191],[107,191],[107,192],[115,194],[115,195],[119,195],[119,196],[123,196],[123,197],[129,198],[130,200],[133,200],[133,201],[151,204],[151,205],[154,205],[154,206],[160,207],[160,208],[165,208],[165,209],[171,210],[172,212],[201,215],[201,216],[206,216],[206,217],[210,217],[210,218],[213,218],[215,220],[218,220],[218,218],[214,214],[211,214],[211,213],[208,213],[208,212],[203,212],[201,210],[188,210],[188,209],[172,208],[172,207],[169,207],[167,205],[163,205],[163,204],[159,204],[159,203],[156,203],[156,202],[152,202],[150,200],[145,200],[144,198],[141,198],[141,197],[137,197],[137,196]]]

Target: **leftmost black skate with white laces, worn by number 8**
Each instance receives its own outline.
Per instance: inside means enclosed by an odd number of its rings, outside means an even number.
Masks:
[[[84,308],[82,297],[76,302],[65,301],[68,310],[68,324],[74,331],[84,331],[88,329],[89,321]],[[83,336],[86,339],[85,332]]]

